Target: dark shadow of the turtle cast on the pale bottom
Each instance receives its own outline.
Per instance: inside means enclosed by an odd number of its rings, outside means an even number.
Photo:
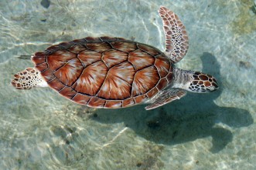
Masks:
[[[148,141],[165,145],[193,142],[198,138],[211,136],[211,152],[219,152],[233,135],[229,128],[251,125],[249,112],[241,108],[220,107],[213,100],[223,90],[220,66],[210,53],[203,53],[203,72],[214,75],[220,89],[208,94],[189,93],[185,98],[168,105],[145,111],[145,105],[125,109],[99,109],[92,116],[102,123],[124,122],[137,135]],[[227,88],[225,90],[228,90]]]

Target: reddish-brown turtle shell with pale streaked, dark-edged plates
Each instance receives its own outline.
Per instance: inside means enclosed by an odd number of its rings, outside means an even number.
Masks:
[[[172,81],[172,62],[166,55],[124,38],[63,42],[36,52],[32,62],[50,88],[94,108],[146,102]]]

